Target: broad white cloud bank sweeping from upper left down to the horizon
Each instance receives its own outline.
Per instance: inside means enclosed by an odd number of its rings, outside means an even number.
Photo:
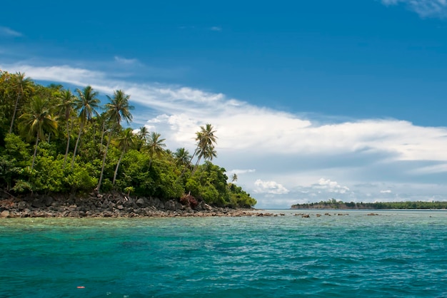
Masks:
[[[199,126],[211,123],[218,136],[216,164],[241,174],[238,184],[256,193],[259,207],[289,207],[297,200],[331,197],[358,202],[424,200],[447,193],[441,183],[441,175],[447,173],[446,127],[395,119],[333,123],[329,118],[315,120],[253,106],[223,93],[134,83],[111,78],[109,72],[69,65],[15,63],[0,65],[0,69],[25,72],[39,81],[91,85],[106,94],[122,89],[138,106],[134,110],[137,123],[161,133],[171,150],[194,151]],[[381,192],[388,189],[393,193]]]

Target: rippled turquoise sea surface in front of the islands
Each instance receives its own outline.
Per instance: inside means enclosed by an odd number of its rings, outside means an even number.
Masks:
[[[0,297],[447,297],[446,211],[268,212],[2,219]]]

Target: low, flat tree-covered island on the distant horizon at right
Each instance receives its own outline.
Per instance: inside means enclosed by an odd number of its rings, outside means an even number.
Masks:
[[[335,199],[295,204],[291,209],[447,209],[447,202],[342,202]]]

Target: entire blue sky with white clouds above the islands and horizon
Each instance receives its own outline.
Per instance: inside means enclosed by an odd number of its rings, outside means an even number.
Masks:
[[[447,200],[447,3],[9,1],[0,69],[131,94],[175,150],[211,123],[257,207]]]

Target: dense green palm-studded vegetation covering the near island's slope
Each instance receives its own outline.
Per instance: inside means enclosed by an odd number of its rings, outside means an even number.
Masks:
[[[234,184],[236,175],[228,182],[226,170],[211,163],[217,154],[211,124],[196,133],[192,155],[171,151],[159,133],[122,126],[132,120],[130,95],[114,91],[102,107],[98,96],[91,86],[75,94],[0,71],[0,189],[11,195],[118,190],[219,206],[256,204]]]

